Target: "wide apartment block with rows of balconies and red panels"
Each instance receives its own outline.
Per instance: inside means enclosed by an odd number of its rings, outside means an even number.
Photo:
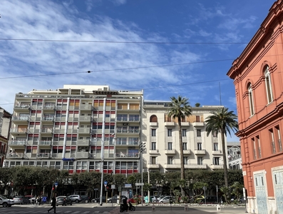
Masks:
[[[137,173],[143,91],[64,85],[17,93],[4,167]],[[103,143],[104,142],[104,143]],[[104,145],[103,145],[104,144]]]

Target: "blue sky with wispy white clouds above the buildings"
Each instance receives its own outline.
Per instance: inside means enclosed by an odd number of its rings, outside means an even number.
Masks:
[[[0,106],[12,112],[15,93],[34,88],[93,84],[143,89],[145,100],[185,96],[191,106],[220,105],[221,88],[236,113],[226,73],[273,3],[1,0]]]

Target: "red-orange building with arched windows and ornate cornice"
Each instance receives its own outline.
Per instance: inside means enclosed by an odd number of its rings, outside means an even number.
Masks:
[[[248,213],[283,213],[283,1],[227,76],[234,79]]]

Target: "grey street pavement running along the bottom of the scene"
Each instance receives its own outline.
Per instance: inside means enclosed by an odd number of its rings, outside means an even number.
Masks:
[[[41,214],[47,213],[47,210],[51,208],[50,205],[13,205],[11,208],[0,208],[0,214]],[[138,206],[135,207],[136,210],[134,212],[123,212],[123,213],[131,213],[131,214],[179,214],[179,213],[190,213],[190,214],[208,214],[208,213],[237,213],[244,214],[245,207],[243,206],[227,206],[221,207],[221,210],[217,210],[216,206],[207,206],[207,205],[199,205],[199,206],[188,206],[188,210],[185,211],[184,206],[156,206],[155,210],[152,210],[151,206]],[[115,210],[114,210],[115,209]],[[103,206],[99,206],[97,203],[78,203],[68,206],[57,206],[56,213],[61,214],[110,214],[110,211],[113,214],[120,213],[119,207],[111,204],[103,204]],[[53,213],[51,210],[50,213]]]

